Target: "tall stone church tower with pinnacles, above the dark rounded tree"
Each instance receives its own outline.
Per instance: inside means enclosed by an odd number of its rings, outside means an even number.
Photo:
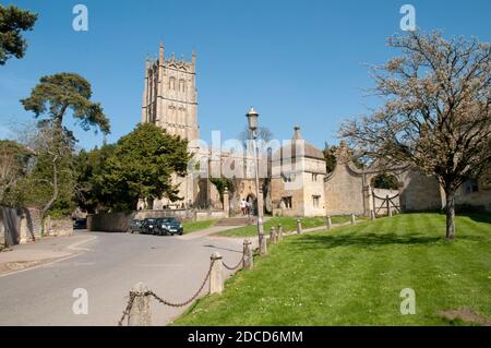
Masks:
[[[158,58],[146,59],[142,122],[152,122],[168,134],[199,139],[195,53],[191,61],[165,57],[160,43]]]

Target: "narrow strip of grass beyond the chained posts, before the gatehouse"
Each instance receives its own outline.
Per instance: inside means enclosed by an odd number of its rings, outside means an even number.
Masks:
[[[319,226],[325,226],[325,217],[302,217],[302,228],[312,228]],[[333,216],[333,224],[340,224],[349,221],[349,216]],[[264,232],[270,233],[270,229],[274,227],[278,227],[278,224],[282,224],[284,231],[294,231],[297,230],[297,217],[271,217],[264,221]],[[253,237],[258,236],[258,227],[256,225],[249,225],[243,227],[238,227],[233,229],[229,229],[226,231],[221,231],[216,236],[225,236],[225,237]]]

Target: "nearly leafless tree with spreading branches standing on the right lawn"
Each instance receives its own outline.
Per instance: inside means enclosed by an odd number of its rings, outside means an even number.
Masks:
[[[411,164],[445,191],[446,238],[455,237],[455,192],[491,161],[490,45],[440,33],[392,37],[402,56],[372,69],[384,104],[339,135],[371,157]]]

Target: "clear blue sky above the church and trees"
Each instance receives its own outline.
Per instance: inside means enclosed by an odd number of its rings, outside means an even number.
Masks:
[[[252,105],[275,137],[290,139],[292,127],[322,147],[337,143],[343,119],[366,112],[373,100],[364,63],[383,63],[397,52],[386,38],[400,34],[399,9],[416,8],[417,26],[446,36],[477,36],[490,41],[491,1],[314,1],[314,0],[49,0],[1,1],[39,13],[27,33],[22,60],[0,67],[0,139],[12,122],[32,120],[19,99],[39,77],[76,72],[86,77],[112,124],[108,142],[129,133],[141,120],[146,53],[159,40],[166,52],[197,55],[201,137],[212,131],[237,137]],[[72,29],[72,8],[88,7],[88,32]],[[103,142],[73,120],[80,146]]]

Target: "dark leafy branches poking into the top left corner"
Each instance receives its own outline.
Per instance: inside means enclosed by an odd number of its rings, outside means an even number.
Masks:
[[[11,4],[0,4],[0,65],[4,65],[11,57],[21,59],[27,49],[27,41],[22,31],[32,31],[37,14],[21,10]]]

